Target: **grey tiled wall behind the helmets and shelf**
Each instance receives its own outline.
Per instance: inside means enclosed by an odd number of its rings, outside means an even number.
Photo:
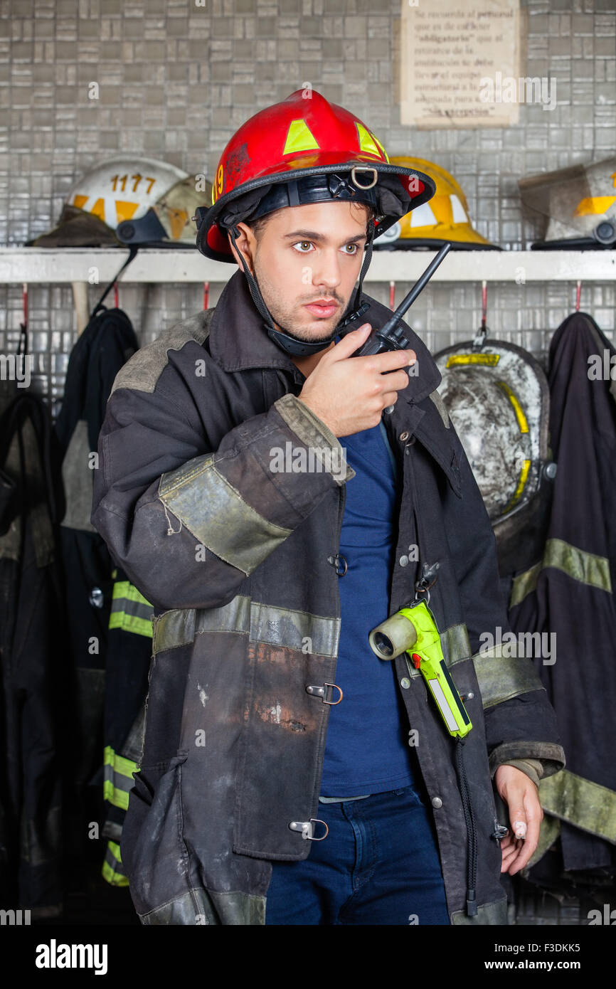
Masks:
[[[399,124],[400,0],[4,0],[0,243],[21,244],[49,229],[74,180],[115,152],[213,176],[244,120],[309,82],[363,119],[390,155],[413,154],[453,172],[477,229],[524,249],[541,231],[522,218],[517,179],[614,153],[616,3],[522,3],[523,71],[556,80],[556,109],[522,104],[520,123],[510,129],[425,132]],[[98,100],[88,98],[92,81]],[[212,287],[211,305],[220,288]],[[389,285],[368,291],[389,303]],[[397,301],[405,291],[396,286]],[[100,287],[90,292],[94,304]],[[490,285],[488,326],[545,362],[574,295],[573,283]],[[613,284],[582,285],[582,310],[611,339],[614,297]],[[120,289],[141,343],[202,301],[199,286]],[[480,284],[435,284],[411,321],[434,351],[468,338],[480,317]],[[0,353],[15,348],[21,318],[21,287],[0,286]],[[55,414],[76,338],[69,287],[31,288],[30,329],[34,387]]]

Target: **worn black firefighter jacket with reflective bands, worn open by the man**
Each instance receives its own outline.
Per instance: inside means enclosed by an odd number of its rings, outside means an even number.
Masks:
[[[367,301],[366,319],[383,325],[390,311]],[[497,641],[497,627],[509,629],[494,537],[440,374],[402,325],[419,373],[384,416],[403,479],[390,614],[414,598],[418,566],[438,561],[430,608],[474,725],[471,860],[454,742],[406,654],[396,678],[452,923],[505,924],[490,776],[521,759],[550,775],[564,753],[530,660],[503,658],[497,644],[480,653],[482,633]],[[107,405],[92,522],[153,607],[143,754],[121,843],[143,924],[263,924],[271,860],[310,851],[340,633],[332,563],[355,472],[342,476],[335,460],[331,472],[271,469],[286,444],[307,460],[309,448],[339,447],[297,398],[305,380],[236,272],[216,309],[137,351]]]

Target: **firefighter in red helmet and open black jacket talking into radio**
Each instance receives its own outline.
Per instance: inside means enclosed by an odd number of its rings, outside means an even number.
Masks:
[[[409,349],[352,356],[390,315],[362,292],[373,239],[433,194],[314,91],[261,111],[197,211],[237,271],[114,383],[92,522],[153,607],[121,841],[145,925],[504,924],[500,872],[536,847],[564,753],[532,664],[496,644],[494,537],[440,374],[406,323]],[[462,743],[408,654],[369,647],[411,600]]]

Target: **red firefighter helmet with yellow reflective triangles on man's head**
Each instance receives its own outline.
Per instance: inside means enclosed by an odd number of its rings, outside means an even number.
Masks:
[[[297,182],[319,175],[325,177],[320,182]],[[434,193],[428,175],[391,164],[381,141],[357,117],[315,90],[298,89],[259,111],[228,141],[213,206],[196,211],[197,246],[208,257],[233,262],[226,230],[236,222],[336,197],[373,205],[376,237]]]

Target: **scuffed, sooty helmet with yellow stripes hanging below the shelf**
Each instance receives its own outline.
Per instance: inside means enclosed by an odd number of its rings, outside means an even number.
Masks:
[[[460,436],[496,537],[502,576],[541,556],[551,481],[550,390],[543,368],[503,340],[469,340],[434,355],[439,393]]]

